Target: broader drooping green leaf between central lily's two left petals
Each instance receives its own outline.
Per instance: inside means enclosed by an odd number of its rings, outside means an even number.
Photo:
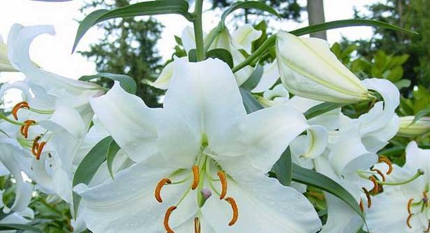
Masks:
[[[110,136],[103,138],[96,144],[84,157],[79,166],[77,166],[75,175],[73,176],[73,187],[79,183],[88,184],[96,174],[98,167],[106,160],[110,144],[113,139]],[[77,216],[77,209],[79,207],[81,197],[73,192],[73,211],[74,216]]]

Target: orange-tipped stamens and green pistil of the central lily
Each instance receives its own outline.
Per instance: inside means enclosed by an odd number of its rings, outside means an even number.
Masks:
[[[233,197],[226,197],[228,193],[228,174],[226,174],[222,168],[216,164],[216,161],[207,156],[207,154],[203,153],[205,147],[207,144],[202,145],[202,149],[200,150],[200,155],[196,158],[196,163],[188,169],[190,172],[186,179],[183,179],[181,181],[172,181],[170,178],[163,178],[161,179],[155,188],[154,191],[154,197],[157,200],[157,202],[163,202],[163,199],[161,198],[161,189],[164,188],[164,186],[175,185],[184,183],[186,181],[190,182],[190,188],[188,188],[184,195],[179,199],[179,202],[175,204],[174,206],[170,206],[167,211],[165,212],[163,225],[165,227],[166,232],[168,233],[174,233],[172,228],[169,225],[169,219],[172,215],[173,211],[179,207],[179,204],[181,204],[182,200],[185,199],[185,197],[188,195],[190,190],[198,190],[198,196],[197,196],[197,204],[199,208],[202,208],[202,206],[205,204],[205,202],[209,199],[209,197],[212,196],[212,192],[216,193],[219,197],[219,200],[225,200],[225,202],[228,202],[232,208],[232,218],[230,222],[228,223],[229,226],[235,225],[237,222],[237,219],[239,218],[239,208],[237,206],[237,202]],[[211,168],[216,167],[218,172],[216,175],[217,178],[212,177]],[[215,188],[214,181],[219,182],[221,185],[221,190],[218,192],[218,190]],[[205,183],[209,184],[209,188],[205,187]],[[195,217],[194,219],[194,231],[195,233],[200,233],[200,220],[198,217]]]

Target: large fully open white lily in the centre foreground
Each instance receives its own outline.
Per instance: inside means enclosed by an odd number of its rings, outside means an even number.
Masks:
[[[164,107],[119,84],[91,100],[135,165],[99,186],[75,187],[93,232],[316,232],[306,198],[265,175],[309,126],[287,106],[246,114],[218,59],[175,64]],[[212,195],[212,197],[211,197]],[[306,216],[306,218],[303,218]]]

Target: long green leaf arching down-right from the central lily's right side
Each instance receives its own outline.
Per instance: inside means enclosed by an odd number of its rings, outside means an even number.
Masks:
[[[364,219],[363,212],[359,209],[358,203],[355,201],[353,195],[348,193],[348,191],[343,188],[339,183],[336,183],[329,177],[315,172],[313,170],[309,170],[299,165],[292,164],[292,181],[304,183],[308,186],[313,186],[323,190],[327,193],[330,193],[340,200],[348,204],[358,215],[363,219],[364,223],[366,220]]]

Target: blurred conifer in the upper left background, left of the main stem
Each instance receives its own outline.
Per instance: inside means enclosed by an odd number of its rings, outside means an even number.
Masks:
[[[90,9],[118,8],[133,3],[131,0],[91,0],[81,8],[83,13]],[[161,38],[163,25],[150,17],[148,20],[121,18],[100,24],[104,36],[98,43],[90,46],[89,51],[80,52],[96,62],[96,69],[103,73],[125,74],[138,84],[137,95],[144,102],[157,107],[158,96],[163,91],[147,84],[154,81],[161,70],[161,56],[156,50],[156,43]],[[104,87],[112,86],[110,80],[97,80]]]

